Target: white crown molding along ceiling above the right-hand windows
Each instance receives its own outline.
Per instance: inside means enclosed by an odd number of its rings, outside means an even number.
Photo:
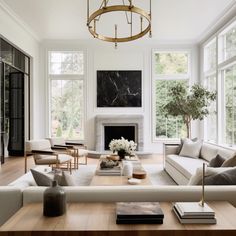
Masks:
[[[233,0],[225,10],[218,15],[215,22],[211,24],[199,37],[196,42],[203,44],[208,38],[216,34],[228,21],[236,15],[236,0]]]

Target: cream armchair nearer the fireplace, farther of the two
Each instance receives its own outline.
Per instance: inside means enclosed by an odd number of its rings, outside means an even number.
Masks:
[[[70,150],[71,155],[74,157],[74,168],[78,169],[80,165],[87,165],[88,150],[82,143],[67,142],[64,138],[53,137],[49,138],[52,148],[67,148]],[[84,158],[84,163],[79,162],[79,159]]]

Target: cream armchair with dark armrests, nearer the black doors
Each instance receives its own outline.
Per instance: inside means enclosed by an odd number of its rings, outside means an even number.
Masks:
[[[51,149],[49,140],[30,140],[26,142],[26,150],[28,154],[32,154],[36,165],[49,165],[62,168],[67,165],[67,169],[71,173],[71,162],[73,157],[66,148],[59,148],[57,150]],[[60,152],[58,152],[60,150]],[[63,152],[62,152],[63,151]]]

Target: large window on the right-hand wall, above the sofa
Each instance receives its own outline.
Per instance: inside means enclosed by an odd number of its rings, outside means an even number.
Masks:
[[[217,90],[219,101],[205,119],[205,137],[236,145],[236,20],[204,46],[204,79],[207,88]]]

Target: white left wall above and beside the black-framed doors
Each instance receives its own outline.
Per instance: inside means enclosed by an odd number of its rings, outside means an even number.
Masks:
[[[43,135],[40,127],[44,108],[40,107],[39,42],[24,24],[0,1],[0,35],[31,57],[31,136]],[[42,87],[42,86],[41,86]],[[41,108],[41,109],[40,109]]]

